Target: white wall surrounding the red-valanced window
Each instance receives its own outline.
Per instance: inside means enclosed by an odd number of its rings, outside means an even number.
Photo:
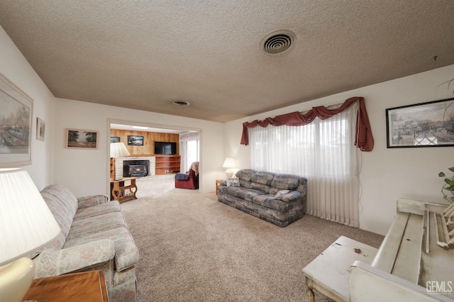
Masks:
[[[239,145],[243,122],[336,104],[352,96],[365,97],[375,148],[361,152],[360,228],[385,235],[394,219],[397,198],[443,202],[438,172],[454,165],[454,147],[387,149],[385,109],[451,98],[454,85],[450,91],[447,84],[439,86],[450,79],[454,79],[454,65],[232,121],[225,124],[224,152],[226,157],[235,157],[240,168],[248,168],[249,147]]]

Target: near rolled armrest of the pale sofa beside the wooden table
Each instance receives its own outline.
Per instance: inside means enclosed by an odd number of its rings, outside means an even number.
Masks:
[[[96,240],[62,250],[43,250],[35,262],[35,278],[59,276],[113,260],[114,242]]]

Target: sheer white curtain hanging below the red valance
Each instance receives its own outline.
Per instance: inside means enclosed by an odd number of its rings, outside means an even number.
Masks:
[[[309,125],[250,128],[252,169],[307,177],[310,215],[359,226],[358,106]]]

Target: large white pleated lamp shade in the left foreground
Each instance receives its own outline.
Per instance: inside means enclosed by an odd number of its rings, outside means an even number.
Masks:
[[[60,232],[23,169],[0,169],[0,266],[30,255]]]

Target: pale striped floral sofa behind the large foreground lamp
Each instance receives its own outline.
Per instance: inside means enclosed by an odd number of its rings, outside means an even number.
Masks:
[[[47,186],[41,196],[61,232],[33,258],[35,278],[102,269],[109,301],[136,301],[138,249],[118,201],[76,198],[59,184]]]

